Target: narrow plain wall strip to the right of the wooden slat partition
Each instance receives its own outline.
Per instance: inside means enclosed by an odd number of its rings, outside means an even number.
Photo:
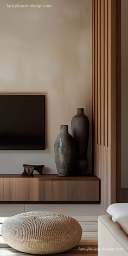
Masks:
[[[128,188],[128,1],[121,1],[121,185]]]

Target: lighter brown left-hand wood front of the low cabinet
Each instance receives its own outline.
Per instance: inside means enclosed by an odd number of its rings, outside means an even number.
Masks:
[[[38,178],[4,178],[4,201],[37,201]]]

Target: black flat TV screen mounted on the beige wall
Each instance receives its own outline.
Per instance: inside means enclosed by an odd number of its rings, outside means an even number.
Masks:
[[[0,150],[45,150],[45,95],[0,95]]]

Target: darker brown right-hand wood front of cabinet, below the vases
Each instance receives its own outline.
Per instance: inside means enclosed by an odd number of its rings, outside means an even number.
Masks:
[[[99,181],[39,181],[40,201],[99,201]]]

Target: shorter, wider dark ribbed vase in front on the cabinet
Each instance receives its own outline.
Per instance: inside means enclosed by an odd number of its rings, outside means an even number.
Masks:
[[[68,133],[68,125],[60,126],[60,133],[54,145],[55,163],[59,176],[73,175],[75,165],[75,144]]]

